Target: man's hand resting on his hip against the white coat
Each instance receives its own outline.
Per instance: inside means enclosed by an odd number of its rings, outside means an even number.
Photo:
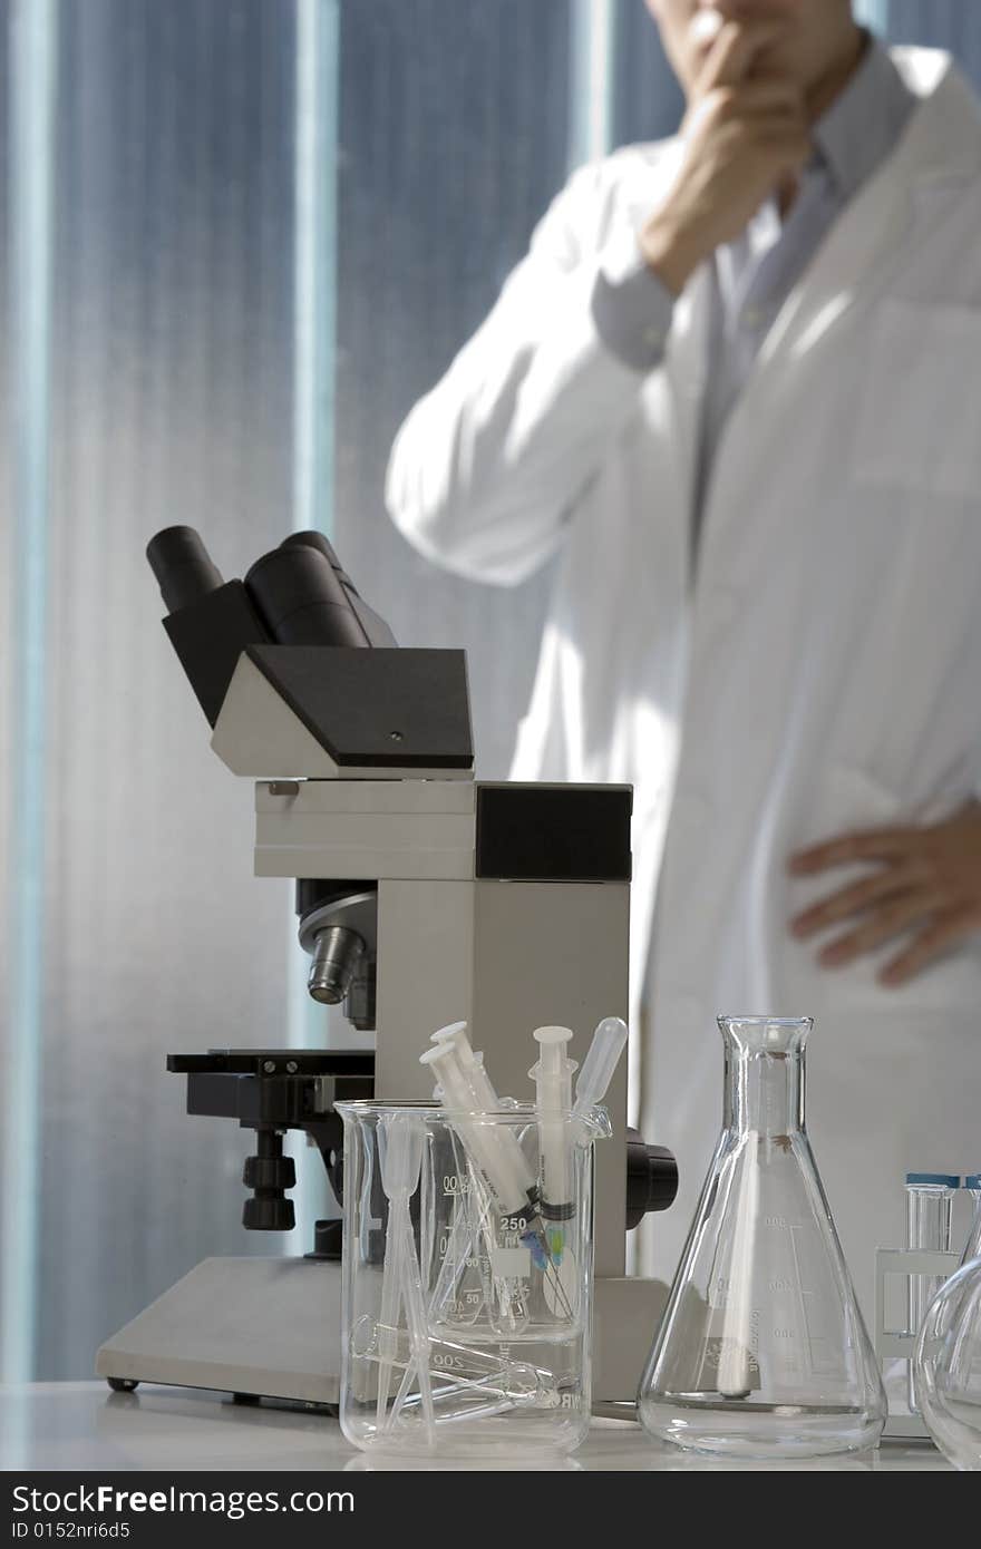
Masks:
[[[885,985],[905,984],[935,959],[981,931],[981,804],[925,827],[869,829],[815,844],[790,857],[790,874],[809,877],[852,861],[876,869],[840,888],[790,922],[806,939],[845,922],[818,954],[838,968],[905,936],[899,953],[879,971]]]

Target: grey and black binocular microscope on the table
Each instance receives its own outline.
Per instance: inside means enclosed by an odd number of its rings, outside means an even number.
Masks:
[[[170,1055],[188,1112],[254,1131],[243,1225],[294,1227],[302,1131],[342,1194],[335,1101],[429,1100],[429,1035],[465,1021],[501,1092],[525,1095],[530,1033],[625,1016],[629,787],[474,779],[462,651],[398,647],[319,533],[223,581],[198,534],[149,544],[164,629],[232,774],[256,781],[257,877],[296,883],[308,993],[375,1032],[364,1049]],[[626,1128],[623,1067],[597,1148],[594,1393],[632,1400],[666,1289],[625,1273],[626,1231],[677,1190],[673,1156]],[[330,1410],[341,1365],[341,1222],[307,1253],[209,1258],[98,1352],[115,1389],[212,1388]]]

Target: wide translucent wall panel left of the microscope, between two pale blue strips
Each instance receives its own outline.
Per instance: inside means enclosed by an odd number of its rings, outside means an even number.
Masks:
[[[245,1233],[248,1137],[169,1050],[285,1042],[288,884],[160,626],[147,538],[240,573],[290,527],[293,6],[59,6],[42,1377]]]

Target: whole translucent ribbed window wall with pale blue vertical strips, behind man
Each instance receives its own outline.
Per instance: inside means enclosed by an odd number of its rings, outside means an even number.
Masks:
[[[862,14],[981,79],[981,6]],[[0,1368],[23,1380],[88,1376],[206,1255],[307,1247],[240,1228],[245,1139],[164,1072],[324,1027],[147,538],[197,525],[236,575],[330,527],[403,643],[466,646],[502,774],[549,575],[426,565],[384,516],[387,449],[569,166],[669,133],[680,96],[643,0],[0,0]]]

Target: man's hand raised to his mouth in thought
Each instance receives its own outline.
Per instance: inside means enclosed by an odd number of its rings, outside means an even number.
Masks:
[[[640,231],[646,263],[676,296],[811,153],[801,88],[753,74],[781,31],[773,20],[727,22],[707,54],[682,124],[679,175]]]

